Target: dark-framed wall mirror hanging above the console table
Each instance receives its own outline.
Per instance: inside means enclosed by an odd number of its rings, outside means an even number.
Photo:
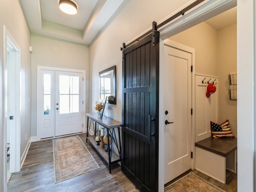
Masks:
[[[99,72],[100,78],[100,100],[107,97],[109,104],[116,104],[116,66]]]

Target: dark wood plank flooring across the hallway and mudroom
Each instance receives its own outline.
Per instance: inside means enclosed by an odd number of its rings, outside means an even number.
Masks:
[[[112,166],[112,173],[109,174],[108,165],[90,146],[89,142],[86,143],[86,134],[79,134],[79,136],[100,166],[100,169],[55,184],[52,139],[32,142],[21,171],[12,174],[8,183],[8,192],[138,191],[122,173],[118,164]],[[237,192],[236,174],[230,174],[227,177],[228,184],[221,184],[196,170],[193,172],[227,192]]]

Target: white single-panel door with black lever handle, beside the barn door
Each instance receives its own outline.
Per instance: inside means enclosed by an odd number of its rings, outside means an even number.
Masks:
[[[168,121],[164,126],[165,184],[192,167],[192,54],[166,42],[162,72],[165,83],[164,113]]]

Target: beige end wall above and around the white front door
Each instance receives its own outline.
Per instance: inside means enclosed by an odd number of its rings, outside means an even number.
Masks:
[[[48,66],[56,68],[78,69],[86,71],[86,98],[88,98],[88,69],[89,49],[87,45],[72,43],[64,40],[48,38],[38,34],[31,34],[33,53],[32,61],[32,116],[31,134],[37,136],[36,132],[36,79],[37,66]],[[86,100],[86,111],[88,100]]]

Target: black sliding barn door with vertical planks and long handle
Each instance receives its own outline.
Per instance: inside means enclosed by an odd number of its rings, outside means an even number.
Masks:
[[[122,171],[140,191],[158,191],[158,31],[123,45],[122,75]]]

